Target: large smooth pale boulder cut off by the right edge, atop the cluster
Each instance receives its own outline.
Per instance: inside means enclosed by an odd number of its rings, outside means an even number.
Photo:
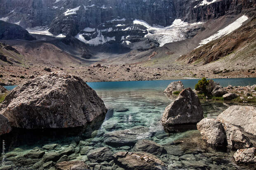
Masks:
[[[256,107],[230,106],[219,114],[217,119],[240,127],[247,133],[256,135]]]

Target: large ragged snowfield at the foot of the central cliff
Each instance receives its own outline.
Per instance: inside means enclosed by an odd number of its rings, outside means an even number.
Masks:
[[[145,26],[148,32],[147,35],[145,35],[145,37],[149,37],[156,40],[159,43],[160,47],[162,47],[166,43],[185,40],[185,33],[187,32],[187,30],[191,27],[201,24],[201,22],[190,24],[181,21],[181,19],[175,19],[171,26],[166,27],[150,26],[147,22],[137,19],[135,19],[133,23]]]

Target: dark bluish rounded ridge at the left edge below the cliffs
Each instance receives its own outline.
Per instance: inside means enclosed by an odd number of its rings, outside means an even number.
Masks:
[[[36,40],[27,30],[13,23],[0,21],[0,40]]]

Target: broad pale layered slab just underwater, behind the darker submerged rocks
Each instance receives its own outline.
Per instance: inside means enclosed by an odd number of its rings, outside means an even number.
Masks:
[[[131,146],[134,145],[137,140],[150,137],[148,128],[145,126],[135,126],[130,129],[116,130],[113,132],[105,133],[104,143],[110,146]]]

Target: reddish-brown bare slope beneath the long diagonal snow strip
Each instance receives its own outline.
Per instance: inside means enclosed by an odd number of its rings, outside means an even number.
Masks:
[[[213,40],[197,49],[194,49],[189,54],[182,56],[178,61],[185,61],[186,63],[197,63],[197,65],[204,65],[211,63],[229,54],[246,49],[248,46],[256,42],[256,18],[249,23],[241,26],[232,33]],[[255,57],[256,52],[251,51],[251,56]],[[237,53],[235,55],[240,55]],[[238,57],[238,56],[237,56]],[[239,56],[241,57],[241,56]]]

